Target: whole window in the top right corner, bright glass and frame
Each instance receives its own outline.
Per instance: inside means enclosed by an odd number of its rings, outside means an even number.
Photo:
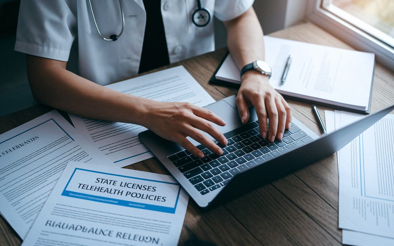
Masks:
[[[394,70],[394,0],[309,0],[307,17]]]

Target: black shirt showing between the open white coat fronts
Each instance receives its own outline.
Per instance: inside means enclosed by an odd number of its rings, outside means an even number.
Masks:
[[[160,0],[143,0],[147,13],[138,73],[170,64]]]

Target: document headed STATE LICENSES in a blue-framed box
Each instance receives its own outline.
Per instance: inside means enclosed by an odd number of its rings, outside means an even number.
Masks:
[[[176,246],[189,195],[171,176],[70,161],[23,246]]]

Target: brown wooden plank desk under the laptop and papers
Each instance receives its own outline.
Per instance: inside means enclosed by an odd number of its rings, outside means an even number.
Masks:
[[[270,34],[274,37],[352,49],[311,23]],[[208,84],[226,48],[154,71],[184,65],[216,100],[236,94],[236,89]],[[152,71],[152,72],[154,72]],[[351,92],[349,92],[351,93]],[[293,115],[320,134],[310,104],[288,101]],[[394,104],[394,72],[376,64],[371,112]],[[324,120],[324,109],[319,107]],[[0,118],[0,133],[52,110],[37,105]],[[156,158],[126,166],[169,174]],[[179,243],[199,238],[217,245],[340,245],[338,229],[338,166],[336,154],[269,185],[249,192],[212,211],[201,213],[190,199]],[[0,219],[0,244],[20,245],[22,240]]]

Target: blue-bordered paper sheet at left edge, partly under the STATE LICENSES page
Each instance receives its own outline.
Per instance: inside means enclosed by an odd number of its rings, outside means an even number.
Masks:
[[[0,135],[0,210],[24,239],[68,161],[115,166],[53,110]]]

